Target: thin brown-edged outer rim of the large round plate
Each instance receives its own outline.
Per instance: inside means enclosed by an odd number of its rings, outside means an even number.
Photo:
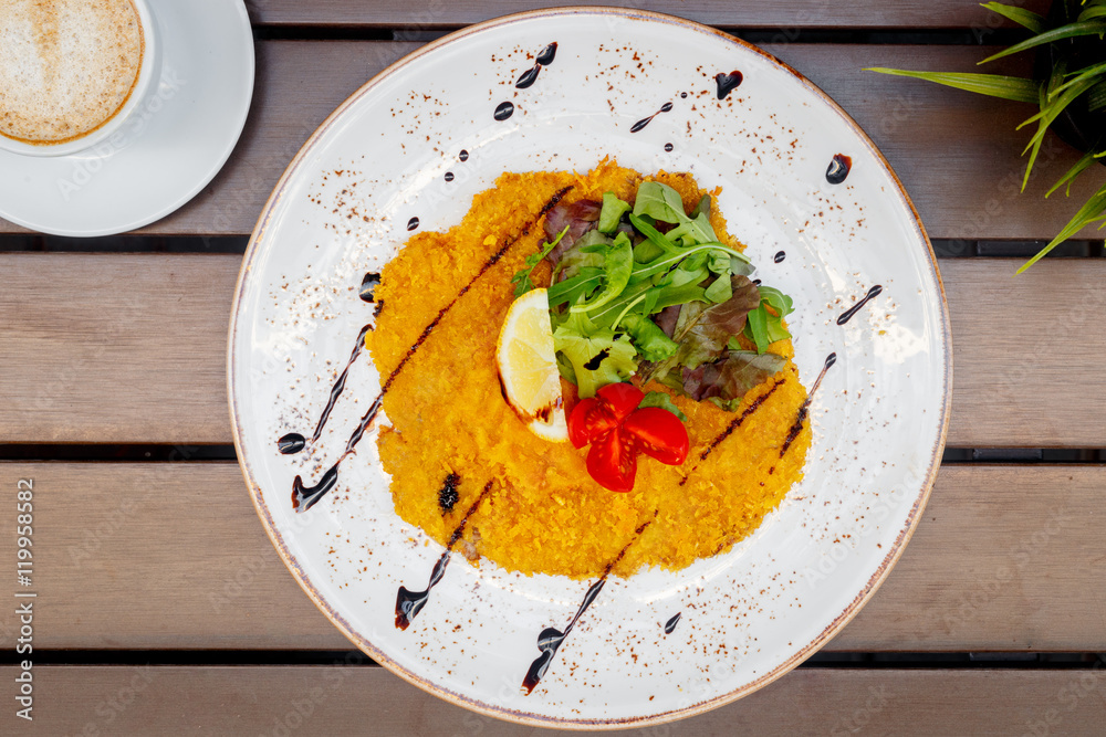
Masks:
[[[682,27],[695,33],[706,33],[720,39],[723,42],[739,46],[748,52],[751,52],[771,64],[779,66],[781,70],[790,73],[796,78],[796,81],[802,84],[810,93],[822,99],[830,109],[836,113],[843,122],[854,131],[858,137],[859,141],[868,149],[868,151],[879,161],[887,173],[890,176],[891,181],[895,185],[895,191],[893,196],[897,194],[902,203],[909,209],[910,215],[912,217],[912,224],[916,228],[917,235],[920,236],[921,241],[926,244],[929,260],[928,266],[930,270],[930,275],[932,276],[935,283],[937,284],[937,292],[940,297],[940,346],[943,349],[943,383],[945,383],[945,397],[940,407],[941,419],[940,419],[940,432],[938,438],[933,443],[932,452],[930,455],[929,467],[927,470],[926,476],[922,481],[919,494],[915,499],[914,506],[907,516],[905,527],[899,531],[898,537],[895,540],[895,545],[891,550],[884,557],[879,567],[868,579],[865,586],[860,589],[859,593],[846,606],[845,610],[842,611],[834,620],[822,631],[822,633],[814,640],[808,642],[799,652],[793,654],[790,659],[774,667],[772,671],[760,676],[755,681],[752,681],[744,686],[737,688],[734,691],[720,694],[713,698],[699,702],[698,704],[692,704],[685,708],[670,709],[668,712],[662,712],[659,714],[654,714],[651,716],[640,716],[640,717],[619,717],[619,718],[599,718],[599,719],[566,719],[560,717],[550,717],[541,714],[535,714],[532,712],[520,712],[515,709],[510,709],[501,706],[494,706],[487,704],[477,698],[469,696],[463,696],[453,691],[450,691],[444,686],[420,677],[418,674],[408,671],[407,668],[393,662],[385,653],[383,653],[378,647],[376,647],[372,642],[366,640],[359,633],[354,632],[348,623],[342,618],[342,615],[334,611],[327,602],[325,602],[320,596],[319,591],[314,588],[312,582],[306,578],[303,569],[300,567],[299,561],[289,551],[283,538],[280,533],[275,529],[271,514],[265,506],[264,499],[261,494],[260,485],[254,481],[252,471],[249,466],[246,455],[243,453],[241,430],[240,430],[240,419],[241,413],[238,411],[236,396],[233,391],[233,379],[234,379],[234,346],[236,338],[239,328],[239,314],[242,306],[242,295],[246,289],[246,282],[249,273],[252,271],[253,262],[260,253],[259,243],[264,239],[267,230],[269,228],[273,211],[280,204],[284,190],[291,182],[292,178],[299,171],[301,165],[307,159],[310,151],[319,144],[320,139],[326,134],[330,127],[356,102],[358,102],[363,96],[369,94],[375,87],[382,84],[387,77],[399,72],[403,67],[420,59],[425,54],[432,53],[437,49],[446,45],[452,44],[465,38],[472,35],[474,33],[480,33],[489,29],[500,28],[511,25],[518,22],[530,21],[539,18],[550,18],[550,17],[563,17],[563,15],[581,15],[581,14],[596,14],[596,15],[615,15],[619,18],[630,19],[630,20],[645,20],[666,23],[670,25]],[[937,255],[933,252],[932,243],[929,240],[929,235],[926,232],[926,228],[921,222],[921,217],[918,214],[918,210],[911,201],[906,188],[902,186],[901,180],[895,172],[894,168],[884,157],[883,152],[875,145],[872,138],[864,131],[864,129],[853,119],[853,117],[845,112],[845,109],[837,104],[830,95],[823,92],[817,85],[807,80],[803,74],[792,69],[789,64],[780,61],[773,54],[755,46],[747,41],[743,41],[737,36],[730,35],[724,31],[720,31],[710,25],[699,23],[697,21],[688,20],[685,18],[679,18],[677,15],[671,15],[668,13],[660,13],[649,10],[637,10],[629,8],[613,8],[613,7],[601,7],[601,6],[568,6],[562,8],[547,8],[539,10],[530,10],[518,13],[511,13],[507,15],[500,15],[498,18],[492,18],[479,23],[473,23],[463,29],[449,33],[440,39],[430,41],[429,43],[419,46],[418,49],[405,54],[403,57],[396,60],[380,72],[375,74],[372,78],[365,82],[361,87],[358,87],[353,94],[346,97],[335,109],[319,125],[319,127],[311,134],[300,150],[296,151],[295,156],[289,162],[281,178],[278,180],[273,191],[270,193],[269,199],[265,201],[264,207],[258,215],[257,224],[254,225],[253,232],[250,235],[250,241],[247,246],[246,253],[242,257],[242,265],[239,271],[238,280],[234,285],[233,303],[231,305],[230,315],[230,326],[228,331],[227,341],[227,392],[228,392],[228,408],[230,412],[231,420],[231,431],[234,439],[234,449],[238,455],[239,468],[246,480],[247,488],[250,493],[250,498],[253,502],[254,509],[258,513],[262,525],[265,528],[265,534],[269,536],[270,543],[276,549],[280,555],[281,561],[292,573],[292,577],[296,580],[300,587],[303,589],[304,593],[312,600],[316,608],[323,612],[323,614],[334,624],[337,630],[345,635],[354,645],[357,646],[363,653],[369,655],[376,660],[382,666],[392,673],[398,675],[408,683],[421,688],[428,694],[442,698],[453,705],[461,706],[463,708],[473,710],[478,714],[484,716],[490,716],[493,718],[504,719],[515,724],[522,724],[526,726],[538,726],[538,727],[556,727],[562,729],[625,729],[628,727],[647,727],[661,724],[669,724],[678,719],[690,718],[705,714],[707,712],[713,710],[726,704],[732,703],[748,696],[749,694],[763,688],[770,683],[782,677],[786,673],[790,673],[800,663],[808,659],[811,655],[821,650],[826,642],[833,639],[842,629],[845,628],[848,622],[859,613],[864,604],[875,594],[879,587],[889,576],[891,569],[898,562],[899,558],[906,549],[907,544],[914,536],[915,529],[918,527],[918,523],[921,520],[922,512],[926,508],[926,504],[929,501],[929,496],[933,488],[933,483],[937,480],[937,473],[940,468],[940,459],[943,452],[946,440],[948,438],[949,429],[949,414],[952,404],[952,333],[949,319],[949,306],[948,299],[945,292],[945,283],[941,280],[940,271],[937,266]]]

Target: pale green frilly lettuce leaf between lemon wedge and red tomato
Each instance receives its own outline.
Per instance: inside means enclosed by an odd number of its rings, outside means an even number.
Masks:
[[[581,399],[608,383],[625,381],[637,370],[637,349],[629,336],[596,327],[584,313],[568,314],[553,330],[553,348],[572,365]]]

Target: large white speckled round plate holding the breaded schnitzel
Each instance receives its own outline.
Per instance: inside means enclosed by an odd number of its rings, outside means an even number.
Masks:
[[[553,42],[553,62],[518,88]],[[734,71],[743,83],[719,99],[716,75]],[[507,102],[513,115],[497,119]],[[668,103],[670,110],[633,131]],[[838,154],[852,170],[834,185],[826,172]],[[400,631],[398,588],[425,588],[442,548],[394,512],[376,450],[386,418],[343,457],[380,391],[368,357],[353,361],[316,442],[281,455],[276,440],[311,436],[359,330],[373,322],[373,305],[358,298],[362,277],[396,253],[411,218],[420,229],[447,229],[503,171],[584,171],[606,156],[721,186],[718,207],[749,245],[757,275],[794,297],[804,386],[831,352],[837,361],[814,397],[805,480],[781,507],[728,554],[679,572],[607,580],[526,695],[521,684],[540,654],[539,633],[564,629],[594,580],[526,578],[458,558]],[[782,263],[773,260],[779,251]],[[510,274],[487,278],[510,288]],[[876,285],[881,293],[838,325]],[[601,728],[738,698],[794,667],[855,615],[925,507],[945,442],[950,361],[941,284],[917,213],[841,108],[783,64],[709,28],[638,11],[557,9],[481,23],[420,49],[362,87],[306,143],[246,255],[229,388],[261,519],[342,632],[450,702],[530,724]],[[295,476],[315,484],[340,459],[334,488],[293,512]]]

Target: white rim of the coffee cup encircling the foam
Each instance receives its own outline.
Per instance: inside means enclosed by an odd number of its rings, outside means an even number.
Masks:
[[[33,6],[38,0],[31,0],[28,3],[28,8]],[[27,156],[65,156],[69,154],[75,154],[82,151],[86,148],[91,148],[96,144],[108,138],[112,134],[116,133],[127,118],[131,116],[135,109],[142,104],[146,92],[149,90],[149,85],[154,77],[154,67],[156,59],[156,39],[154,34],[154,21],[150,15],[149,7],[146,4],[146,0],[128,0],[128,2],[134,8],[135,14],[138,18],[139,28],[142,31],[142,38],[139,40],[142,44],[142,61],[138,67],[138,75],[131,86],[129,94],[127,95],[125,102],[118,106],[113,113],[108,114],[102,122],[97,122],[96,125],[91,127],[84,133],[79,133],[75,136],[64,138],[58,143],[51,143],[50,140],[39,139],[33,143],[29,143],[29,139],[19,139],[6,135],[4,129],[0,128],[0,149],[12,151],[15,154],[22,154]],[[3,3],[0,2],[0,6]],[[49,8],[49,3],[40,4],[39,8]],[[35,14],[38,10],[30,10],[28,14]],[[49,12],[45,11],[45,12]],[[21,20],[18,19],[17,20]],[[31,28],[34,19],[25,19],[27,28]],[[9,25],[14,25],[14,21],[6,20],[3,22],[9,23]],[[34,36],[32,32],[30,34]],[[2,43],[0,39],[0,43]],[[20,50],[20,52],[11,51],[13,49],[12,44],[8,44],[7,53],[33,53],[35,49],[30,48],[25,44],[20,44],[14,46]],[[6,53],[0,51],[0,53]],[[41,51],[39,52],[41,53]],[[133,66],[131,69],[134,69]],[[2,110],[0,110],[2,112]]]

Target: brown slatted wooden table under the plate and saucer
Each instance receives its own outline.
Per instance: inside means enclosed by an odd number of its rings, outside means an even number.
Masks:
[[[10,590],[38,594],[32,655],[15,652],[14,606],[0,614],[0,731],[531,731],[351,652],[262,531],[234,463],[225,386],[246,236],[300,145],[392,61],[523,6],[248,4],[253,107],[226,169],[195,200],[139,233],[91,242],[0,221],[0,560],[14,567],[17,483],[33,480],[33,588],[12,577]],[[1008,43],[1016,31],[968,0],[637,4],[765,46],[858,120],[942,255],[956,349],[950,450],[875,599],[780,682],[647,731],[1102,734],[1106,259],[1100,241],[1078,241],[1012,277],[1074,211],[1074,199],[1042,193],[1076,154],[1050,139],[1018,194],[1025,107],[860,71],[969,70],[985,55],[977,40]],[[1085,197],[1089,185],[1075,189]],[[33,723],[12,699],[24,659]]]

